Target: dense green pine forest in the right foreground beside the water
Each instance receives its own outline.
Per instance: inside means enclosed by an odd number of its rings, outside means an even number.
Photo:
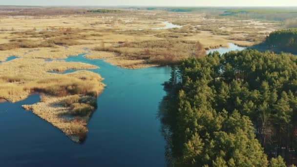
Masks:
[[[214,52],[172,67],[160,106],[168,163],[296,164],[296,69],[294,55],[257,50]]]

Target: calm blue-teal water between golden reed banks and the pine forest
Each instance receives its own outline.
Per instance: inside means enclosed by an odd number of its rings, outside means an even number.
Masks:
[[[107,85],[89,121],[85,143],[73,143],[21,108],[39,102],[37,94],[14,104],[0,103],[0,167],[166,166],[157,112],[166,95],[161,84],[169,80],[170,67],[122,69],[84,55],[65,60],[99,66],[90,71],[99,73]]]

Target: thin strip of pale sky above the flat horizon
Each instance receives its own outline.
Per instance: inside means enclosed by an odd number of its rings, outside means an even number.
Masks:
[[[297,6],[297,0],[0,0],[0,5]]]

